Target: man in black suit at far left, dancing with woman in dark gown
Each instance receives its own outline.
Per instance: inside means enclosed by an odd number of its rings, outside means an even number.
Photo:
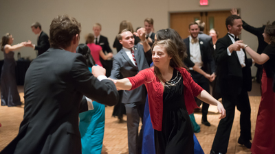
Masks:
[[[27,46],[37,50],[38,55],[41,55],[50,48],[49,36],[47,36],[47,34],[41,30],[41,25],[38,22],[33,23],[31,28],[32,32],[37,35],[37,45],[28,44]]]

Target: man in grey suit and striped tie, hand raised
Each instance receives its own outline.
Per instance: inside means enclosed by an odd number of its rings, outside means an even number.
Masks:
[[[143,45],[134,45],[135,39],[132,32],[128,29],[124,29],[121,34],[118,34],[118,40],[122,44],[122,49],[113,58],[111,79],[120,79],[121,76],[122,78],[133,77],[140,70],[149,68],[149,64],[152,62],[152,55],[151,48],[146,41],[145,30],[137,30],[137,36],[140,37]],[[144,85],[134,90],[124,90],[123,92],[122,103],[124,103],[126,108],[129,154],[141,153],[142,130],[140,130],[139,135],[138,127],[140,118],[143,121],[146,94]]]

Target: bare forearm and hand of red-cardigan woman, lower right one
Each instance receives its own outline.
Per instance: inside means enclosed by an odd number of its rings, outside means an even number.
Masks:
[[[217,99],[214,99],[214,97],[212,97],[210,94],[208,94],[208,92],[206,92],[206,90],[202,90],[201,93],[197,96],[197,98],[203,102],[208,103],[208,104],[217,105],[217,109],[218,109],[219,113],[221,114],[221,116],[219,117],[220,119],[224,118],[226,116],[225,109],[224,109],[223,105],[221,104],[221,102],[217,101]]]

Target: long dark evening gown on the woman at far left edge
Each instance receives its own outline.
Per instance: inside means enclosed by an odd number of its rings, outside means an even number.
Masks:
[[[17,91],[17,81],[15,79],[14,51],[4,53],[4,64],[1,73],[1,105],[17,106],[21,105],[19,93]]]

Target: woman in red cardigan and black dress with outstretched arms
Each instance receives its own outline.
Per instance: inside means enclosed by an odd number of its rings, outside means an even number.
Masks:
[[[155,129],[156,153],[194,153],[192,126],[188,112],[197,108],[194,96],[217,105],[220,118],[223,105],[198,86],[190,77],[171,40],[160,40],[152,47],[154,66],[135,77],[113,80],[120,90],[133,90],[144,84]]]

